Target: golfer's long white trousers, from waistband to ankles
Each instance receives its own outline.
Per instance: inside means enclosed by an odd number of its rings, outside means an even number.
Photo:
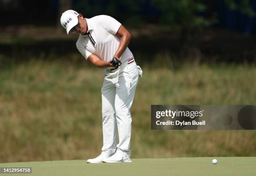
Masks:
[[[142,70],[136,62],[124,62],[118,70],[110,72],[104,70],[105,79],[101,89],[102,93],[102,152],[107,155],[120,152],[131,156],[131,105],[138,77]],[[117,129],[119,144],[117,144]]]

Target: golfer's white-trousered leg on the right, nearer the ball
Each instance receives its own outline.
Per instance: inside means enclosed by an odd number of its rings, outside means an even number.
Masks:
[[[131,105],[138,84],[138,74],[134,77],[119,78],[115,96],[115,112],[118,125],[119,144],[117,152],[131,156],[130,140],[131,140]]]

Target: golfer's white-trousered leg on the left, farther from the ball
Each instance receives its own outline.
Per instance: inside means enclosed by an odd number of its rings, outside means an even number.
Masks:
[[[117,144],[117,131],[115,119],[115,86],[111,79],[104,79],[102,93],[102,152],[108,155],[115,153]]]

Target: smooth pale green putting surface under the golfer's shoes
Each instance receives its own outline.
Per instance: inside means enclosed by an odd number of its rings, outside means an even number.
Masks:
[[[0,167],[32,167],[22,176],[255,176],[256,157],[132,159],[132,163],[87,164],[86,160],[3,163]],[[20,174],[0,174],[0,176]]]

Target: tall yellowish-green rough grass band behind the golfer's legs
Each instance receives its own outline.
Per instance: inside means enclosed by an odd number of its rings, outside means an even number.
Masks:
[[[102,147],[102,70],[31,60],[0,70],[0,162],[87,159]],[[154,131],[151,104],[255,104],[256,68],[144,65],[132,158],[256,156],[256,131]]]

